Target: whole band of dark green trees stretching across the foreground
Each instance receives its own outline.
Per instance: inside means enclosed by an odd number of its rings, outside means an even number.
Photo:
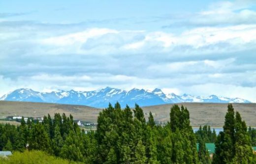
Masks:
[[[22,119],[18,127],[0,125],[0,150],[42,150],[86,164],[210,164],[205,142],[216,141],[214,164],[255,164],[253,133],[253,129],[247,131],[238,112],[234,117],[231,105],[225,116],[224,132],[216,137],[208,126],[194,134],[189,111],[183,106],[174,105],[170,121],[160,126],[151,112],[146,120],[138,105],[121,109],[116,103],[99,113],[96,131],[87,133],[80,130],[71,115],[59,113],[54,118],[45,116],[42,123],[25,123]]]

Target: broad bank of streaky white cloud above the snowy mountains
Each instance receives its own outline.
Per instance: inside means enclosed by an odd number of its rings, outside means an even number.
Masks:
[[[182,27],[188,27],[179,30],[5,20],[0,22],[0,94],[19,87],[158,87],[256,102],[256,12],[251,3],[215,3],[181,17]]]

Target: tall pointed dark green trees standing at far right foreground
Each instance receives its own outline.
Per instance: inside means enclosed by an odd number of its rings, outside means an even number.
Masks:
[[[234,114],[231,104],[225,115],[224,132],[219,134],[215,145],[213,164],[253,163],[251,137],[246,123],[242,121],[239,112]]]

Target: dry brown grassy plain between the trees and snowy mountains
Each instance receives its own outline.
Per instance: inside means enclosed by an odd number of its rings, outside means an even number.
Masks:
[[[156,120],[169,121],[170,108],[173,104],[165,104],[158,106],[142,107],[147,117],[147,113],[151,111]],[[197,127],[199,125],[211,125],[212,127],[222,127],[224,124],[224,116],[227,110],[227,104],[217,103],[178,103],[184,105],[190,111],[191,125]],[[239,111],[242,118],[249,126],[256,126],[256,104],[238,104],[234,103],[233,107]],[[40,117],[54,115],[54,113],[72,114],[75,119],[82,121],[96,122],[98,113],[102,109],[96,109],[88,106],[63,105],[51,103],[31,103],[31,102],[10,102],[0,101],[0,116],[22,115]]]

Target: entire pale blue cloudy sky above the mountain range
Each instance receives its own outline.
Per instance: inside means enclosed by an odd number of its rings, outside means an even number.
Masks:
[[[256,103],[256,1],[0,0],[0,96],[106,86]]]

